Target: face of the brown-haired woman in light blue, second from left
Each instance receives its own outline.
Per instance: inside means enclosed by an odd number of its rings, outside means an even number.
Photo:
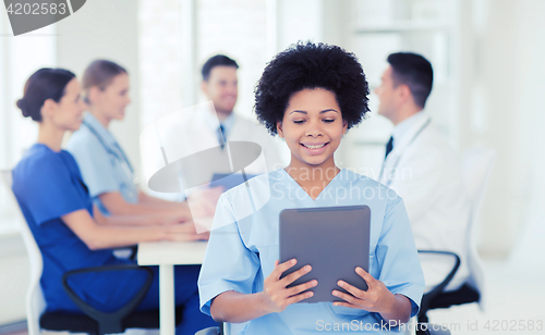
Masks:
[[[129,75],[118,74],[106,88],[93,87],[90,103],[96,113],[108,121],[123,120],[125,108],[131,102],[129,98]],[[100,117],[100,119],[102,119]]]

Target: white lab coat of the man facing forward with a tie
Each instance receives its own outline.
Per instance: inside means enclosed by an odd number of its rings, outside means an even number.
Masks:
[[[165,159],[168,163],[172,163],[205,150],[217,150],[218,154],[228,154],[227,149],[221,150],[218,147],[219,120],[210,111],[210,103],[202,103],[171,113],[143,132],[141,149],[146,181],[149,181],[154,173],[165,166]],[[259,158],[244,167],[246,174],[262,174],[284,166],[272,141],[272,136],[267,133],[263,125],[237,114],[232,116],[234,121],[227,134],[227,141],[250,141],[258,144],[262,148]],[[161,147],[165,149],[165,156],[162,156]],[[214,173],[241,172],[221,167],[216,164],[216,161],[204,161],[202,164],[189,167],[179,166],[179,171],[183,174],[180,175],[183,190],[181,195],[153,194],[169,200],[183,200],[184,196],[192,191],[186,185],[183,185],[183,181],[191,179],[193,184],[205,184],[211,181]]]

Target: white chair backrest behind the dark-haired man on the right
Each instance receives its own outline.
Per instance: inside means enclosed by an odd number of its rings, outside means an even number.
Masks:
[[[469,285],[480,293],[479,306],[483,311],[486,306],[486,295],[483,265],[476,248],[477,236],[480,234],[479,214],[481,213],[486,187],[491,179],[495,158],[496,151],[492,148],[471,148],[465,151],[461,161],[462,176],[471,201],[470,222],[468,225]]]

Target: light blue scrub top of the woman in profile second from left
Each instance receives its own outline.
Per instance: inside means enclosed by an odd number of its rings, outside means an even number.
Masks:
[[[70,136],[66,150],[74,156],[89,194],[102,213],[109,214],[98,198],[105,193],[119,191],[126,202],[138,202],[138,188],[129,159],[113,135],[92,113],[86,113],[80,129]]]

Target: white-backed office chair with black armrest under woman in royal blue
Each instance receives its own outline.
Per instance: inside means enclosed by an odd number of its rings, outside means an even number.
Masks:
[[[13,204],[19,209],[19,204],[11,189],[12,174],[10,170],[0,171],[1,179],[5,184],[9,194],[13,200]],[[63,287],[69,297],[82,310],[83,314],[75,314],[71,312],[49,312],[46,311],[46,301],[40,287],[40,277],[43,271],[43,259],[38,245],[34,239],[31,228],[26,224],[22,211],[16,211],[17,220],[21,225],[21,234],[28,253],[31,264],[29,285],[26,293],[26,318],[28,325],[28,335],[39,335],[40,330],[71,333],[87,333],[89,335],[104,335],[113,333],[123,333],[129,328],[158,328],[159,327],[159,310],[138,311],[134,309],[142,301],[146,295],[152,281],[153,272],[149,268],[137,266],[135,264],[110,265],[99,268],[80,269],[66,272],[63,277]],[[99,272],[99,271],[145,271],[147,273],[147,281],[142,286],[141,290],[131,299],[125,306],[111,313],[104,313],[98,311],[84,302],[70,288],[68,280],[81,273]],[[182,315],[182,308],[177,308],[175,322],[180,323]]]

